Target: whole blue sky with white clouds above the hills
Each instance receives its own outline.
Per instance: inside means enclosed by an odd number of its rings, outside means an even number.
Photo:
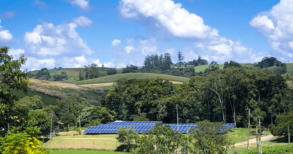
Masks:
[[[0,46],[22,67],[142,66],[169,53],[177,62],[293,61],[293,0],[1,1]],[[292,46],[290,46],[292,45]],[[289,47],[288,47],[289,46]],[[281,50],[280,50],[281,49]],[[276,51],[278,50],[278,51]]]

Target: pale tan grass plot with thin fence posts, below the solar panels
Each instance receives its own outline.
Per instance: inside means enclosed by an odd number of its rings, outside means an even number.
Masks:
[[[117,140],[92,140],[92,139],[62,139],[49,140],[42,145],[43,148],[94,148],[113,150],[120,146]]]

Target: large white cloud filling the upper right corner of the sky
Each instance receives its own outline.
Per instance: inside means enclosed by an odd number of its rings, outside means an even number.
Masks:
[[[279,50],[284,61],[293,58],[293,50],[289,48],[293,40],[293,0],[280,0],[270,11],[259,13],[249,24],[268,39],[273,50]],[[287,48],[288,47],[288,48]],[[284,58],[285,57],[285,58]]]

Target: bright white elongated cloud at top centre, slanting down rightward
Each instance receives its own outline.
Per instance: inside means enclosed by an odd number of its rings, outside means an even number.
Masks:
[[[217,30],[204,24],[202,18],[181,8],[171,0],[121,0],[120,14],[125,18],[154,18],[153,26],[167,29],[178,38],[207,38],[217,35]]]

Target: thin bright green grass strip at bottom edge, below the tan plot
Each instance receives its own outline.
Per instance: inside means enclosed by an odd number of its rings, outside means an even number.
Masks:
[[[49,150],[51,154],[127,154],[113,151],[90,151],[90,150]]]

